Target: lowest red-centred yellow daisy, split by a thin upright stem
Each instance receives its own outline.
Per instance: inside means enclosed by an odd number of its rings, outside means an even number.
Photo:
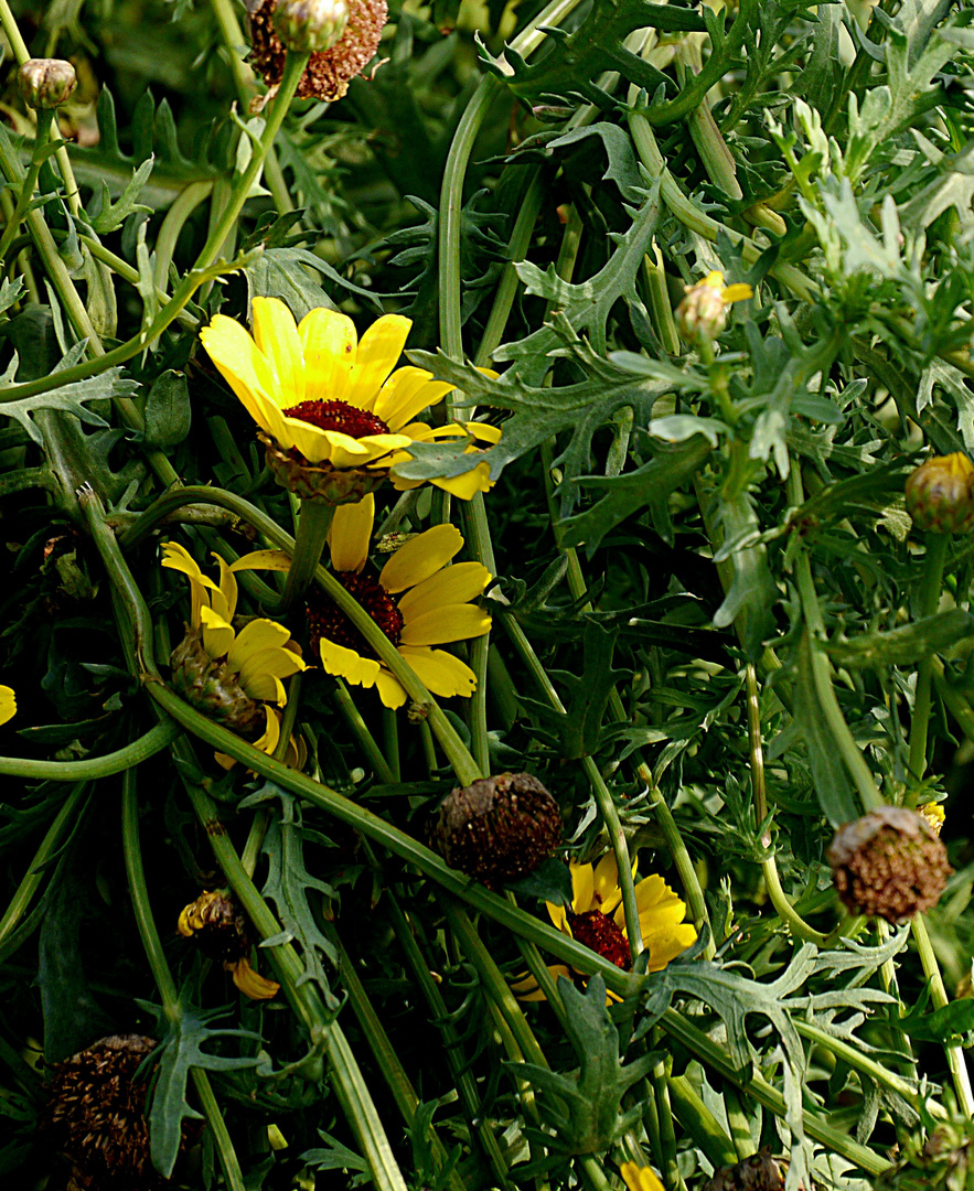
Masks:
[[[583,943],[616,967],[629,971],[629,936],[614,853],[606,853],[594,867],[573,862],[569,868],[572,909],[545,902],[551,922],[569,939]],[[636,875],[635,863],[632,875]],[[639,911],[643,944],[649,950],[647,971],[661,972],[670,960],[697,941],[697,930],[691,923],[683,922],[686,904],[662,877],[654,874],[636,884],[636,906]],[[548,971],[552,977],[569,975],[563,964],[551,965]],[[532,977],[513,985],[513,990],[522,1000],[544,1000],[544,993]]]

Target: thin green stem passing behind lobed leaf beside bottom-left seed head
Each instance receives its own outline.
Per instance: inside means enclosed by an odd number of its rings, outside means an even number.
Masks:
[[[142,863],[142,843],[138,830],[138,794],[136,793],[136,771],[131,768],[123,778],[121,785],[121,842],[125,854],[125,873],[129,878],[129,894],[132,899],[132,910],[136,916],[142,946],[145,949],[145,958],[149,968],[156,981],[162,1008],[167,1017],[173,1018],[179,1012],[179,992],[169,965],[166,962],[166,954],[162,949],[162,940],[156,928],[156,919],[152,915],[152,906],[149,902],[149,888],[145,884],[145,868]],[[220,1156],[220,1165],[226,1178],[226,1184],[231,1191],[245,1191],[243,1172],[239,1159],[233,1148],[233,1142],[223,1118],[223,1112],[213,1095],[210,1077],[199,1067],[192,1068],[193,1084],[200,1098],[206,1123],[213,1134],[213,1142]]]

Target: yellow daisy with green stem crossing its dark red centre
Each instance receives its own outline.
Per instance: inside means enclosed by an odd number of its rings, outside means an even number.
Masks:
[[[433,694],[469,698],[476,687],[474,672],[458,657],[432,647],[489,632],[491,617],[470,603],[491,581],[489,570],[479,562],[448,566],[462,549],[463,537],[454,525],[436,525],[400,547],[377,578],[368,574],[364,567],[374,516],[373,497],[336,509],[329,534],[336,578]],[[358,631],[331,600],[314,592],[307,615],[312,646],[329,674],[377,687],[387,707],[406,701],[406,692],[370,655]]]

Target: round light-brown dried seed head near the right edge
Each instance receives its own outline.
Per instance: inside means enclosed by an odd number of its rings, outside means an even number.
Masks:
[[[826,855],[844,905],[892,923],[936,905],[953,872],[937,833],[904,806],[884,806],[843,824]]]

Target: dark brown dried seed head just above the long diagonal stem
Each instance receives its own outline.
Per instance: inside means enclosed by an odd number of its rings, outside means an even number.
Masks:
[[[488,885],[532,873],[561,843],[561,811],[530,773],[501,773],[452,790],[433,842],[451,868]]]

